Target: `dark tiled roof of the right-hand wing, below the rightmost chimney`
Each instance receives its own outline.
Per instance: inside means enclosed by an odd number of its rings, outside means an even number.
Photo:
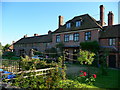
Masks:
[[[100,38],[114,37],[120,37],[120,24],[103,27],[103,31],[100,32]]]

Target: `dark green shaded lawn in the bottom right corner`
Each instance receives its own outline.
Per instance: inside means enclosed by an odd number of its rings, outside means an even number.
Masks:
[[[100,88],[119,88],[120,87],[120,70],[107,70],[108,75],[97,75],[95,86]]]

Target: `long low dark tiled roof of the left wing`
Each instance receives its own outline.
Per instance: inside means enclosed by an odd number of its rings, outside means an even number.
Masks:
[[[26,44],[26,43],[49,43],[52,42],[52,35],[40,35],[33,37],[21,38],[14,44]]]

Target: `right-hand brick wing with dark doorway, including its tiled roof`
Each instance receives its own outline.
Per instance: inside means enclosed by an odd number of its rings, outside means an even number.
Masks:
[[[103,27],[99,42],[102,50],[109,51],[108,65],[120,67],[120,24]]]

